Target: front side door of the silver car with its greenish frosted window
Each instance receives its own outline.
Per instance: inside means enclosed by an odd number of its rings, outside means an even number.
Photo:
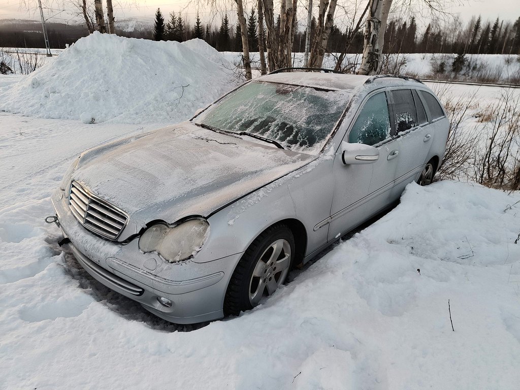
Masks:
[[[345,165],[341,148],[333,164],[334,195],[329,241],[353,229],[388,204],[396,161],[391,135],[391,116],[385,91],[368,95],[360,105],[343,142],[371,145],[379,150],[372,164]]]

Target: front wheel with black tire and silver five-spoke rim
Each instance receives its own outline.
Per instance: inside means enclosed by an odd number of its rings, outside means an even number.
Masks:
[[[238,315],[272,295],[287,280],[295,253],[287,225],[273,225],[261,233],[237,264],[224,298],[224,314]]]

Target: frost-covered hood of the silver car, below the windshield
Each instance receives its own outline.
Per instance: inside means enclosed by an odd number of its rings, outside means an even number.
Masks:
[[[73,179],[138,230],[155,219],[208,216],[314,159],[185,122],[84,153]]]

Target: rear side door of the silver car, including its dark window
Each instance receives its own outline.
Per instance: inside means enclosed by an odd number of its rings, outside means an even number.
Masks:
[[[399,149],[396,180],[391,200],[397,200],[406,185],[422,171],[432,145],[433,134],[423,103],[414,89],[392,89],[391,108],[395,124],[395,145]]]

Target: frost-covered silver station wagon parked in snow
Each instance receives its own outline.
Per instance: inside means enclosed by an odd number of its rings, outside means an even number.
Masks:
[[[280,72],[82,153],[52,201],[95,279],[168,321],[208,321],[258,305],[408,183],[430,183],[447,136],[419,81]]]

